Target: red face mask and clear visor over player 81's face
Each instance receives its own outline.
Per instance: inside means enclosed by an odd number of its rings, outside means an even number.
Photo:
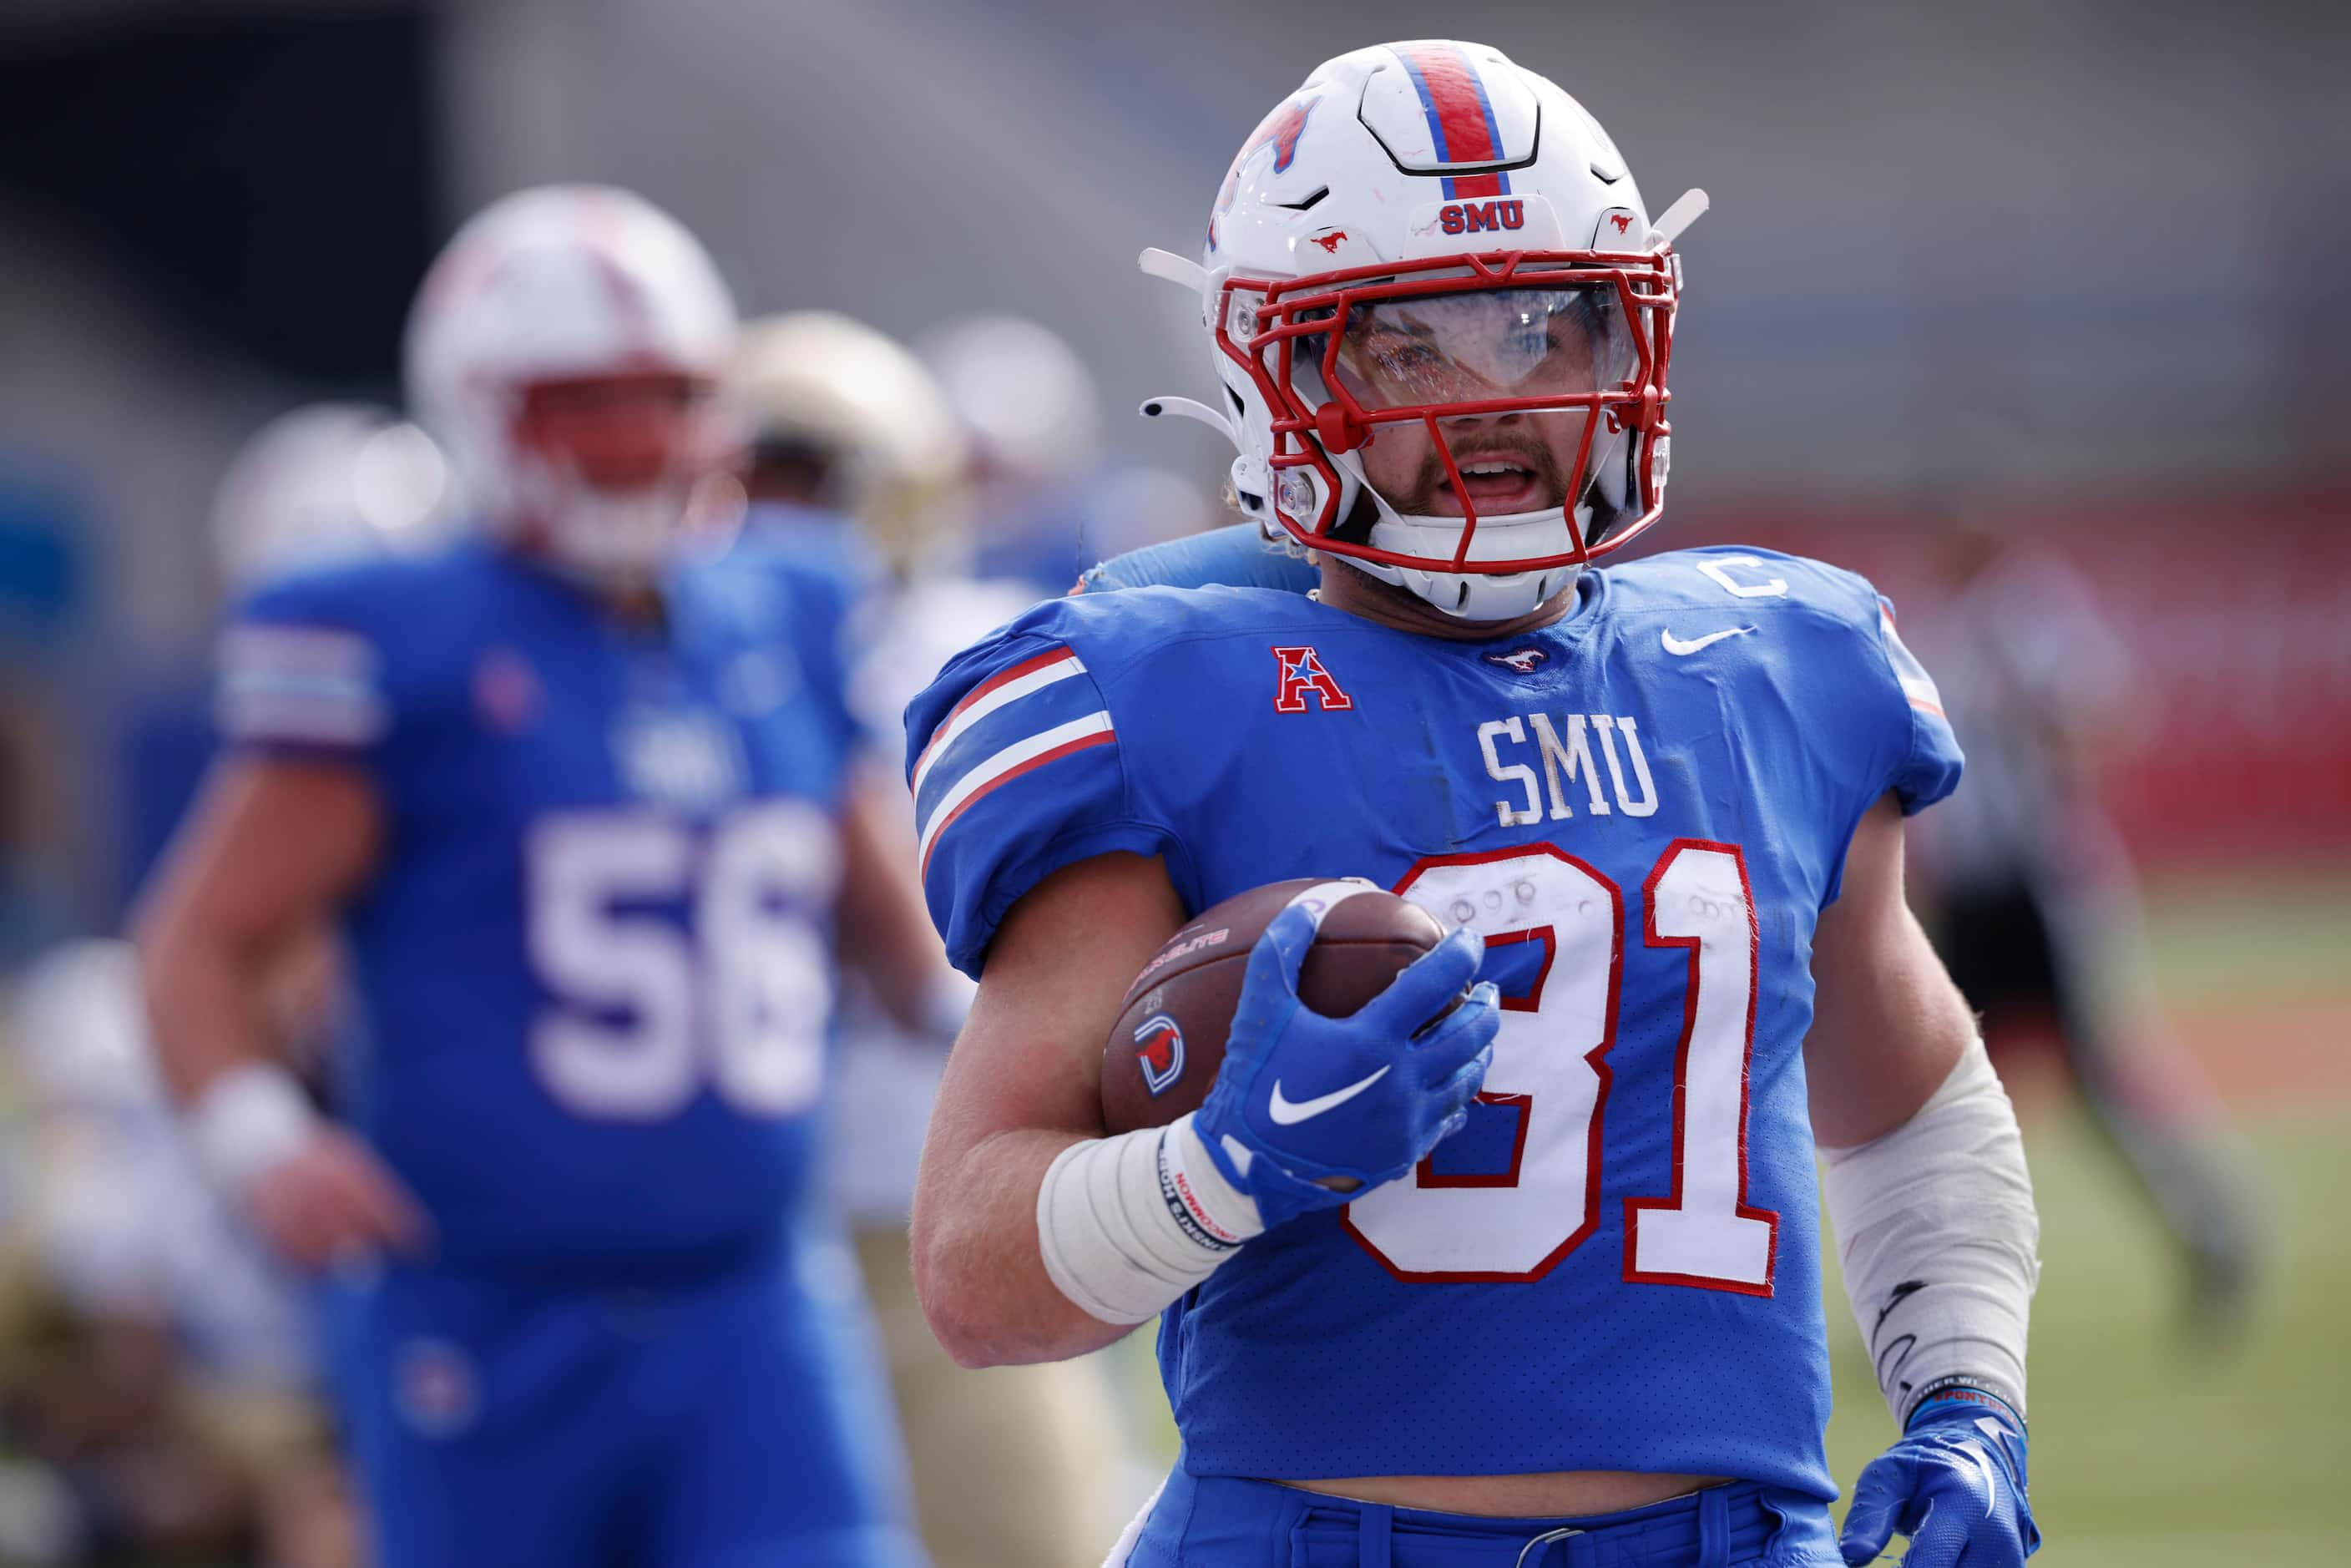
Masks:
[[[1218,346],[1272,409],[1279,522],[1317,550],[1422,571],[1547,571],[1613,550],[1662,508],[1676,284],[1672,252],[1227,282]],[[1389,517],[1460,520],[1451,555],[1333,538],[1357,489]],[[1559,517],[1568,550],[1502,559],[1500,536],[1476,548],[1481,517]]]

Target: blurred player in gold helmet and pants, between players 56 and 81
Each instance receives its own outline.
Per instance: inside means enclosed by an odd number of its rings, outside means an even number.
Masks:
[[[752,421],[745,534],[863,557],[875,583],[849,691],[870,769],[889,785],[898,853],[912,863],[915,811],[896,785],[905,705],[957,649],[1039,592],[969,574],[966,543],[943,524],[964,503],[971,449],[938,381],[900,343],[825,310],[748,322],[731,393]],[[959,1368],[915,1300],[915,1164],[969,992],[936,1027],[910,1032],[858,976],[844,980],[825,1175],[889,1347],[931,1559],[1098,1563],[1121,1519],[1124,1448],[1100,1366]]]

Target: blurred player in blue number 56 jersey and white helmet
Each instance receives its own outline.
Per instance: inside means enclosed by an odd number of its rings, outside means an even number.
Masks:
[[[844,788],[844,583],[691,545],[731,341],[701,244],[628,193],[468,223],[409,386],[482,534],[245,604],[141,919],[200,1154],[334,1274],[388,1568],[919,1561],[804,1187],[835,931],[910,1018],[943,971]],[[327,917],[346,1121],[261,1009]]]

